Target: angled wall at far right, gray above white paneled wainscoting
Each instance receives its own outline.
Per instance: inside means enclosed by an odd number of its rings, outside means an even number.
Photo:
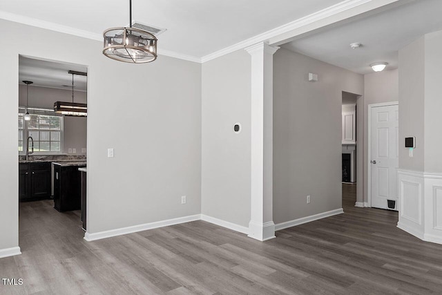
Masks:
[[[416,137],[414,156],[399,148],[398,227],[442,244],[442,31],[399,50],[399,137]]]

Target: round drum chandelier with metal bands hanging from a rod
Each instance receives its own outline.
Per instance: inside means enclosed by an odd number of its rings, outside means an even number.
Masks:
[[[106,57],[132,64],[157,59],[157,38],[146,30],[132,27],[132,1],[129,0],[129,28],[110,28],[103,33]]]

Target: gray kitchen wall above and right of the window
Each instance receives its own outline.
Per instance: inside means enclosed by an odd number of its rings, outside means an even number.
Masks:
[[[86,104],[86,92],[75,91],[75,102]],[[53,108],[54,102],[71,102],[72,91],[39,86],[29,86],[29,106],[40,108]],[[19,84],[19,105],[26,106],[26,85]],[[32,113],[32,112],[31,112]],[[86,148],[86,117],[64,117],[64,149],[63,153],[68,153],[68,149],[75,148],[77,153],[72,155],[84,155],[82,148]]]

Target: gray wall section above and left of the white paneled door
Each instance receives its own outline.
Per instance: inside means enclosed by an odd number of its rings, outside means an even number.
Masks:
[[[363,113],[358,112],[358,124],[363,121],[363,136],[358,137],[358,153],[363,155],[363,184],[359,180],[357,186],[357,202],[368,201],[368,106],[383,102],[398,102],[399,100],[399,73],[398,70],[384,70],[382,72],[364,75]],[[401,108],[401,106],[399,106]],[[358,110],[359,111],[359,110]],[[363,117],[361,117],[361,115]],[[399,116],[401,111],[399,111]],[[361,118],[363,120],[361,120]],[[362,150],[361,150],[362,149]],[[359,164],[359,162],[358,162]],[[359,169],[358,169],[359,171]],[[363,197],[364,196],[364,197]]]

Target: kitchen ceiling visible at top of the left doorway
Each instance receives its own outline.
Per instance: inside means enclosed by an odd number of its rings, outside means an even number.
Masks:
[[[77,64],[61,64],[53,61],[42,61],[19,57],[19,84],[23,81],[32,81],[32,86],[72,89],[72,75],[69,70],[87,73],[86,66]],[[74,89],[86,91],[87,77],[74,75]],[[24,85],[24,84],[23,84]]]

